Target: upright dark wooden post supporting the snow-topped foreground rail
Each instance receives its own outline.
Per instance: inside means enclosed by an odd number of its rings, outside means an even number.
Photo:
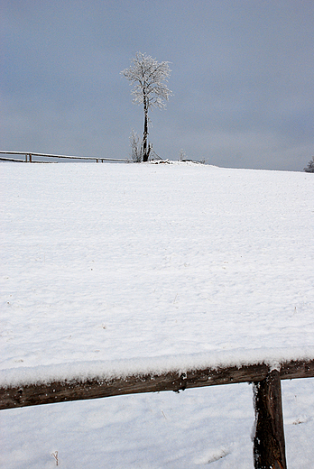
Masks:
[[[254,382],[254,468],[287,469],[282,418],[281,377],[277,370]]]

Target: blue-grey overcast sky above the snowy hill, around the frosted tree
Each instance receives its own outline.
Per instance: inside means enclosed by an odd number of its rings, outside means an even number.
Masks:
[[[120,71],[171,61],[162,158],[302,170],[314,154],[313,0],[0,0],[0,150],[125,158],[143,132]]]

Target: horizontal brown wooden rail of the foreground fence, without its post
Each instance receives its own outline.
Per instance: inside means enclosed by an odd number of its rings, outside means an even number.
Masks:
[[[97,378],[0,387],[0,409],[98,399],[139,392],[183,391],[190,388],[215,386],[236,382],[262,382],[269,373],[269,365],[257,363],[241,367],[206,368],[187,372],[136,374],[122,378]],[[314,377],[314,360],[282,363],[281,379]]]

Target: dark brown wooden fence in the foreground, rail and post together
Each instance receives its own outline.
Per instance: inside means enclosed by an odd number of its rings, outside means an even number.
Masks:
[[[286,469],[281,380],[313,378],[314,360],[266,363],[240,367],[206,368],[159,373],[137,373],[115,379],[71,380],[0,387],[0,409],[98,399],[140,392],[184,391],[238,382],[254,383],[254,468]]]

